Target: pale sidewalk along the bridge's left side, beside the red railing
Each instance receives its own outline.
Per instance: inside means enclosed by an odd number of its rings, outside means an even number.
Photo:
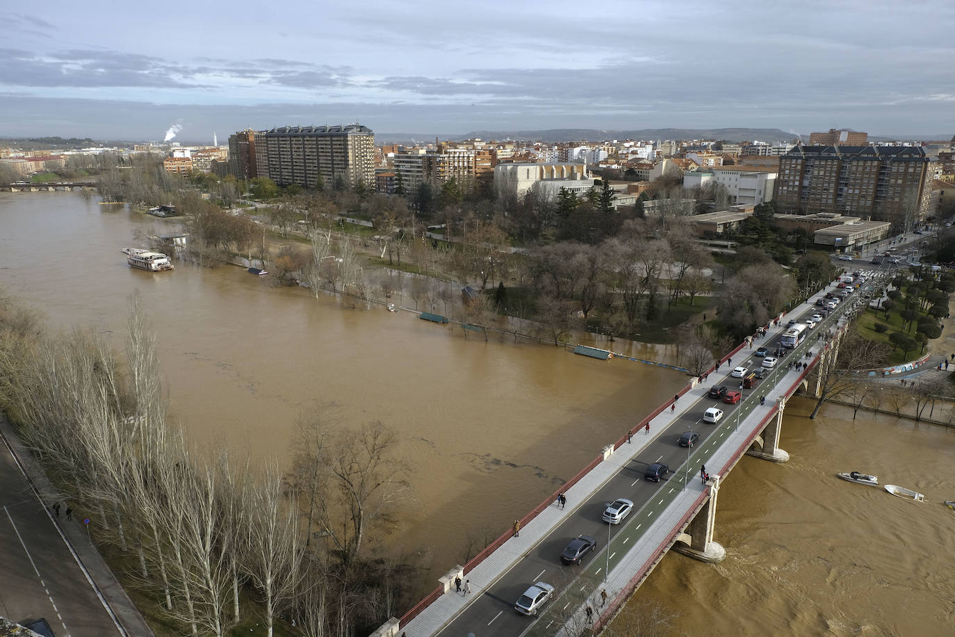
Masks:
[[[807,303],[797,307],[794,311],[801,312],[810,307],[811,306]],[[739,353],[736,354],[738,356],[737,362],[749,356],[753,350],[759,347],[759,343],[765,341],[767,338],[772,338],[785,329],[787,329],[785,322],[780,321],[779,325],[769,329],[765,336],[754,339],[752,348],[744,346],[743,350],[740,350]],[[551,504],[551,506],[542,511],[534,520],[528,522],[526,526],[521,527],[520,537],[511,538],[504,542],[483,562],[477,564],[477,566],[465,576],[465,579],[471,583],[471,595],[459,594],[452,588],[437,598],[434,603],[428,605],[428,607],[421,611],[407,626],[401,626],[400,629],[407,631],[409,637],[435,635],[443,626],[450,623],[458,613],[467,607],[477,595],[490,588],[499,578],[518,563],[521,558],[527,555],[539,542],[546,538],[550,532],[562,522],[565,516],[570,515],[582,502],[596,493],[609,478],[613,477],[621,468],[638,457],[646,448],[647,443],[655,439],[661,432],[666,431],[668,426],[680,415],[689,411],[691,405],[697,400],[706,396],[712,384],[736,381],[737,379],[731,378],[730,376],[732,367],[732,364],[724,363],[720,365],[719,372],[712,372],[707,383],[701,383],[680,396],[680,399],[677,400],[675,411],[670,412],[666,410],[650,420],[649,435],[647,435],[644,430],[635,432],[632,436],[631,443],[628,444],[625,442],[613,454],[599,463],[584,476],[584,478],[581,478],[564,493],[567,498],[565,508],[561,509],[556,502]],[[792,373],[796,374],[797,372]],[[790,374],[786,374],[784,378],[789,378],[789,376]],[[792,384],[793,381],[788,382]],[[788,388],[789,384],[786,384],[785,387]],[[772,408],[771,397],[772,395],[767,396],[766,407],[757,407],[759,410],[758,414],[760,414],[759,417],[765,415],[767,411]],[[687,493],[693,494],[692,497],[695,499],[699,496],[701,491],[702,487],[695,491],[688,489]],[[678,501],[682,500],[678,499]],[[655,546],[656,544],[653,545]],[[616,570],[619,573],[624,572],[625,569],[618,568]]]

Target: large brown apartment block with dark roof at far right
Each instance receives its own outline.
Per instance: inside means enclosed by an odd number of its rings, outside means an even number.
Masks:
[[[919,146],[796,146],[779,158],[780,212],[838,212],[910,225],[928,158]]]

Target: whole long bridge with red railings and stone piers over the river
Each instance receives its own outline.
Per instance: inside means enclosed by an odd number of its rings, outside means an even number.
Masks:
[[[648,414],[632,435],[607,445],[576,477],[520,520],[519,536],[513,531],[501,535],[469,563],[441,577],[438,587],[402,618],[393,618],[373,635],[599,632],[670,548],[704,562],[721,561],[726,551],[713,540],[721,479],[746,454],[775,462],[789,459],[778,447],[786,401],[800,387],[808,393],[819,392],[820,372],[836,363],[846,319],[864,308],[873,295],[881,294],[887,272],[865,274],[869,275],[865,285],[816,328],[807,329],[805,340],[788,350],[752,390],[742,389],[741,379],[731,376],[732,369],[761,367],[763,359],[755,351],[776,349],[786,330],[784,320],[732,350],[708,373],[705,383],[694,379],[675,401],[669,399]],[[803,322],[816,311],[803,304],[786,320]],[[805,363],[806,368],[791,365],[795,362]],[[743,392],[735,406],[708,396],[712,385],[724,384]],[[702,422],[709,407],[724,412],[716,424]],[[688,431],[700,437],[684,449],[677,439]],[[653,462],[665,462],[671,468],[659,483],[644,478]],[[703,465],[710,474],[706,482],[701,477]],[[561,492],[566,495],[564,507],[557,503]],[[620,524],[608,524],[602,520],[605,507],[618,498],[632,500],[633,511]],[[563,565],[562,549],[579,535],[595,539],[596,549],[580,565]],[[456,578],[462,582],[461,592],[456,591]],[[551,584],[555,593],[536,617],[525,617],[515,611],[514,604],[537,582]]]

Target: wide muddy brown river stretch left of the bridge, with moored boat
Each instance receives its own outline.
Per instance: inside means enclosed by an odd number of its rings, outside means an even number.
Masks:
[[[465,339],[413,312],[342,309],[240,267],[126,264],[122,247],[175,228],[78,194],[0,193],[0,285],[54,326],[93,325],[120,346],[138,290],[170,413],[203,446],[285,459],[296,420],[319,407],[342,425],[393,427],[414,464],[414,499],[386,542],[438,574],[463,563],[469,537],[478,548],[496,538],[686,383],[513,337]],[[641,344],[626,353],[666,355]]]

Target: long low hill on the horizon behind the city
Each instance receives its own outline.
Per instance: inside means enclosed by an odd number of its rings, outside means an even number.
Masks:
[[[803,136],[808,138],[808,136]],[[796,134],[778,128],[646,128],[604,131],[592,128],[562,128],[546,131],[473,131],[455,139],[537,139],[541,141],[601,141],[603,139],[725,139],[727,141],[774,141],[795,139]]]

